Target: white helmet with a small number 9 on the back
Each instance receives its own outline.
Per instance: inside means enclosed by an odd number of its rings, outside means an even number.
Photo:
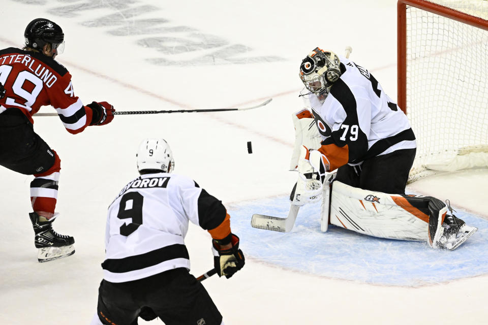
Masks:
[[[171,173],[174,170],[173,153],[164,139],[145,139],[137,152],[137,170],[160,170]]]

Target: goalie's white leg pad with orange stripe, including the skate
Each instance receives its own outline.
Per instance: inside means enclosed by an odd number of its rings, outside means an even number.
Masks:
[[[333,224],[360,234],[423,241],[432,248],[449,250],[478,230],[434,197],[363,190],[339,181],[323,187],[321,215],[322,231]]]

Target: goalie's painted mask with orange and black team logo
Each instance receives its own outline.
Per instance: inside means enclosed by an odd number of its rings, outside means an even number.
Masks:
[[[300,79],[317,96],[327,95],[332,84],[341,76],[340,63],[335,53],[317,47],[301,61]]]

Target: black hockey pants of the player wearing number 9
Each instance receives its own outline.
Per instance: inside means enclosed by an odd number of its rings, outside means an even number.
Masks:
[[[97,314],[107,325],[136,325],[141,308],[149,307],[166,325],[220,325],[222,315],[203,285],[185,268],[140,280],[102,280]]]

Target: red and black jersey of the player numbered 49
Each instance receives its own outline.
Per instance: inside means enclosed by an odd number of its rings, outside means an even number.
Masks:
[[[75,96],[70,73],[52,57],[14,47],[0,50],[0,82],[6,89],[0,113],[20,109],[34,123],[32,115],[51,105],[72,134],[92,122],[92,109]]]

